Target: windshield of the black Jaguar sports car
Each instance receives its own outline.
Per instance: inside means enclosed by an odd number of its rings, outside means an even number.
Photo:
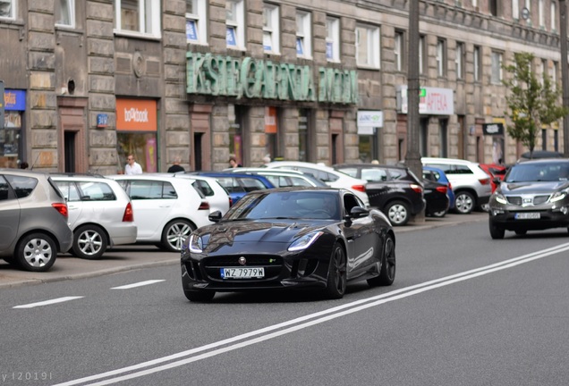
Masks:
[[[335,191],[280,191],[251,193],[232,206],[224,221],[340,220],[340,199]]]

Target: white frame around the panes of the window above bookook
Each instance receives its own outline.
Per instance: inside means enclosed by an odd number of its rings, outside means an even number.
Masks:
[[[137,37],[161,38],[161,18],[160,0],[148,0],[150,10],[147,12],[147,1],[137,0],[139,13],[139,29],[123,29],[123,0],[114,0],[115,4],[115,34],[132,35]],[[149,19],[149,20],[147,20]],[[149,32],[147,32],[149,30]]]

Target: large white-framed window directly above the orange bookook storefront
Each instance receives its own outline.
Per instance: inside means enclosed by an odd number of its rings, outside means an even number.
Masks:
[[[160,37],[160,0],[115,0],[115,31]]]

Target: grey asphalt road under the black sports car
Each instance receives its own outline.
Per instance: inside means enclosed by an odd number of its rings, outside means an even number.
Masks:
[[[565,384],[567,231],[492,240],[483,217],[414,230],[397,231],[393,286],[342,300],[195,304],[177,263],[4,288],[0,384]]]

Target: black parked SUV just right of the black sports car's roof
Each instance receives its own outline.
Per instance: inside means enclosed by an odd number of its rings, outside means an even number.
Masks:
[[[369,206],[387,215],[395,225],[405,225],[425,209],[423,186],[408,168],[382,164],[335,164],[334,169],[366,181]]]

